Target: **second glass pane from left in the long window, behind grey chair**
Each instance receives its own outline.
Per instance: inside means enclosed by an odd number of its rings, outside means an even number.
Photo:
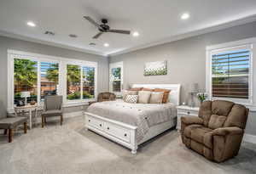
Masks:
[[[56,95],[59,84],[59,65],[41,62],[41,100],[45,95]]]

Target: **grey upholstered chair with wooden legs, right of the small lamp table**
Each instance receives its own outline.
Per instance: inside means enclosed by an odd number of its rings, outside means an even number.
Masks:
[[[61,125],[63,122],[62,96],[52,95],[44,98],[44,111],[42,113],[42,127],[47,117],[60,116]]]

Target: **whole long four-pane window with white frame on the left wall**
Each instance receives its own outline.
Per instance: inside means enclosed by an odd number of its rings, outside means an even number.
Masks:
[[[8,51],[8,109],[30,92],[27,102],[42,104],[46,95],[63,95],[64,105],[96,99],[97,63],[15,50]],[[27,94],[27,93],[26,93]]]

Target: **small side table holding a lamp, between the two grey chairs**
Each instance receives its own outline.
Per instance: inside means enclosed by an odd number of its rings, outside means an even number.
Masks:
[[[28,112],[29,113],[29,129],[32,129],[32,111],[35,111],[35,117],[38,116],[38,105],[27,104],[25,106],[15,106],[15,115],[18,116],[20,113]]]

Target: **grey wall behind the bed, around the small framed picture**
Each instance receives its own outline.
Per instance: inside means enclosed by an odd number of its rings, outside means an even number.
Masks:
[[[256,36],[256,22],[235,26],[201,36],[140,49],[131,53],[112,56],[110,62],[124,61],[124,83],[181,83],[182,102],[189,102],[190,83],[199,83],[205,90],[206,47],[212,44],[236,41]],[[168,60],[166,76],[143,76],[145,62]],[[247,133],[256,135],[256,114],[250,113]]]

